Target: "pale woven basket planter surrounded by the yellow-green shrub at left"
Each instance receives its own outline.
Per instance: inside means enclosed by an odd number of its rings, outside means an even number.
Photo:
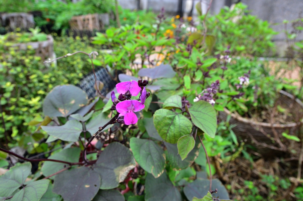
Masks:
[[[48,58],[53,58],[53,37],[51,35],[47,36],[46,41],[41,42],[28,42],[28,43],[16,43],[11,45],[12,47],[19,47],[19,50],[26,50],[28,46],[31,46],[36,51],[36,56],[40,56],[42,61]]]

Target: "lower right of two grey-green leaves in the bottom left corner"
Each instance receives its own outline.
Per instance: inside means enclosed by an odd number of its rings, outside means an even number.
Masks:
[[[32,181],[19,190],[10,201],[39,201],[45,194],[49,180]]]

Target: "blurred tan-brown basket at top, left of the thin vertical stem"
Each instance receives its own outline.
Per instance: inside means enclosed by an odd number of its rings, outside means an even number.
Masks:
[[[105,28],[105,25],[109,25],[109,14],[88,14],[74,16],[69,21],[71,30],[83,31],[83,30],[101,30]]]

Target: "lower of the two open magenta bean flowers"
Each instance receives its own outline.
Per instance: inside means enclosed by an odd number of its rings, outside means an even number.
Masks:
[[[144,105],[137,100],[125,100],[118,103],[116,109],[120,113],[119,116],[124,116],[125,124],[130,125],[138,122],[138,118],[134,112],[143,110]]]

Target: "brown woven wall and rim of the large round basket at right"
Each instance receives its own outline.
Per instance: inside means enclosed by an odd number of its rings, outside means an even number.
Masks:
[[[300,118],[300,113],[302,114],[303,112],[303,103],[298,98],[294,101],[293,95],[281,90],[278,101],[282,107],[291,109],[290,112],[294,116],[294,119]],[[279,138],[282,137],[283,132],[295,135],[302,123],[301,120],[301,122],[297,121],[297,123],[270,124],[241,117],[238,114],[230,112],[226,108],[224,108],[224,111],[219,112],[220,120],[226,120],[228,115],[231,116],[229,123],[237,125],[232,130],[236,134],[238,140],[244,140],[246,144],[255,146],[257,152],[263,156],[281,152],[278,149],[269,148],[269,146],[279,147],[279,144],[273,140],[275,138],[275,133],[279,135]],[[264,143],[269,146],[264,146]],[[288,142],[285,140],[283,141],[283,144],[287,146]]]

